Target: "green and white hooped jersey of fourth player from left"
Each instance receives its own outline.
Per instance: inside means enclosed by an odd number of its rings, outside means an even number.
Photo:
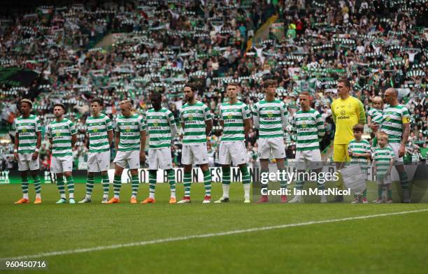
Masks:
[[[143,117],[138,114],[129,117],[120,115],[116,118],[115,131],[120,132],[119,151],[140,150],[140,131],[145,131]]]

